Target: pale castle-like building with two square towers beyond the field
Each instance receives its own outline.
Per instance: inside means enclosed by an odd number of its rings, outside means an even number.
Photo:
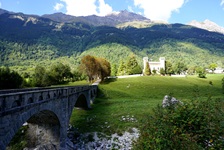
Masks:
[[[156,70],[159,72],[161,68],[165,70],[165,57],[160,57],[158,62],[149,61],[148,57],[143,57],[143,70],[145,70],[146,63],[149,63],[151,71]]]

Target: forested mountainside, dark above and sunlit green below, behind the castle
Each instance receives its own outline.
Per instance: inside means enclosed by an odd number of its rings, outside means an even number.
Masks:
[[[127,12],[108,16],[119,22],[125,20],[122,15],[128,16],[126,21],[140,18]],[[140,65],[145,56],[153,60],[163,56],[173,64],[182,61],[189,67],[206,67],[211,63],[223,67],[223,50],[223,34],[183,24],[116,28],[22,13],[0,14],[0,64],[20,72],[58,61],[76,68],[80,58],[87,54],[104,57],[117,65],[135,54]]]

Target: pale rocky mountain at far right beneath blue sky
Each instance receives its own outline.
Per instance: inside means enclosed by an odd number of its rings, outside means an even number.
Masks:
[[[217,25],[216,23],[206,19],[203,22],[198,22],[196,20],[191,21],[190,23],[188,23],[188,25],[197,27],[197,28],[201,28],[201,29],[205,29],[211,32],[218,32],[218,33],[222,33],[224,34],[224,28],[220,27],[219,25]]]

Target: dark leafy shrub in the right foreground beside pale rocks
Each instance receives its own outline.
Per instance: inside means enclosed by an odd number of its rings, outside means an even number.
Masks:
[[[135,149],[223,149],[223,101],[157,106],[144,120]]]

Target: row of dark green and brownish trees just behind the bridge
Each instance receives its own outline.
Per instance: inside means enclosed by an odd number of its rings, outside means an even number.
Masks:
[[[93,82],[96,79],[104,80],[110,74],[111,66],[106,59],[87,55],[73,71],[69,65],[60,62],[51,66],[37,65],[32,74],[23,73],[22,76],[9,67],[1,67],[0,89],[46,87],[85,79]]]

